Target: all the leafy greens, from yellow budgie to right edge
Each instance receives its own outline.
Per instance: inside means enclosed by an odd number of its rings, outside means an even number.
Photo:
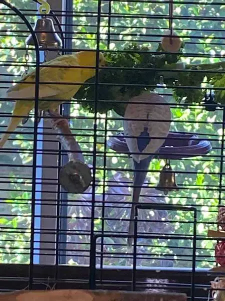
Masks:
[[[139,95],[143,90],[152,91],[159,82],[161,73],[168,74],[169,70],[175,69],[182,56],[183,46],[182,44],[178,54],[166,54],[159,43],[156,54],[152,54],[147,47],[131,43],[122,52],[105,53],[108,68],[99,72],[97,112],[106,113],[113,109],[123,116],[126,103],[131,97]],[[170,72],[170,78],[166,76],[164,82],[172,87],[177,102],[200,103],[208,84],[220,88],[225,86],[225,76],[217,74],[218,70],[224,70],[223,67],[225,62],[186,65],[183,72]],[[157,69],[164,70],[159,72]],[[210,69],[215,72],[209,73]],[[94,111],[94,83],[95,78],[87,80],[74,95],[78,103],[89,112]],[[215,96],[217,102],[225,102],[224,90],[216,90]]]

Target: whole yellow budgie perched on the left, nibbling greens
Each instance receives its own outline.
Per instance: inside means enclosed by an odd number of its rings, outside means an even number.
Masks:
[[[77,83],[83,83],[95,75],[95,64],[95,51],[80,51],[74,55],[68,54],[57,57],[44,63],[43,67],[40,66],[38,110],[56,110],[59,104],[70,100],[81,86]],[[71,68],[69,68],[69,66],[71,66]],[[75,66],[80,66],[80,68],[72,68]],[[82,66],[93,68],[82,68]],[[105,59],[103,54],[99,53],[99,67],[102,66],[105,66]],[[55,82],[57,82],[57,84],[55,84]],[[34,108],[35,70],[23,77],[19,83],[10,87],[6,91],[6,98],[16,99],[16,102],[6,133],[4,133],[0,139],[0,148],[3,147],[10,135],[8,131],[12,132],[15,130],[23,118],[28,116],[30,110]],[[53,101],[54,98],[57,101]],[[18,117],[13,117],[13,115],[17,115]]]

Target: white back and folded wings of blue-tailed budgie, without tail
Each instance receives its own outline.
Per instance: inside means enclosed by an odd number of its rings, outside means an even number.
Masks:
[[[170,127],[169,105],[160,95],[144,92],[130,99],[125,109],[123,128],[127,147],[132,158],[139,163],[157,152],[164,143]],[[138,103],[141,102],[141,103]],[[125,119],[132,120],[125,120]],[[148,119],[148,120],[138,120]],[[126,136],[133,136],[128,138]]]

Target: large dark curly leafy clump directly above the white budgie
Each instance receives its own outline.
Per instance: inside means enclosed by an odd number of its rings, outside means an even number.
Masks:
[[[156,68],[176,63],[180,54],[162,54],[159,44],[157,53],[148,52],[147,47],[131,43],[124,52],[107,52],[107,66],[99,72],[97,111],[105,113],[113,109],[119,115],[124,114],[126,102],[141,91],[153,90],[158,82]],[[89,84],[91,83],[91,84]],[[94,78],[86,81],[74,95],[78,103],[90,112],[94,110]],[[89,85],[88,85],[89,84]],[[134,86],[135,85],[135,86]],[[140,85],[140,86],[137,86]],[[147,87],[152,85],[152,87]]]

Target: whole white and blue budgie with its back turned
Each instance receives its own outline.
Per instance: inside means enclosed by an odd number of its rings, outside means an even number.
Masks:
[[[138,203],[150,161],[168,135],[170,119],[168,103],[154,92],[143,92],[131,98],[126,106],[123,121],[124,136],[134,166],[128,235],[133,235],[134,206]],[[128,246],[131,246],[132,241],[133,238],[128,237]]]

